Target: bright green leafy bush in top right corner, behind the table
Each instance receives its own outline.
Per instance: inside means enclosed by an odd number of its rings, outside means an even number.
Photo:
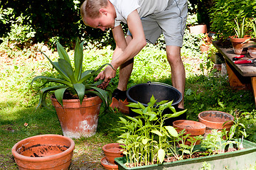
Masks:
[[[235,35],[234,19],[238,18],[240,23],[241,18],[255,18],[255,6],[256,1],[250,0],[215,0],[213,7],[210,8],[210,30],[223,38]]]

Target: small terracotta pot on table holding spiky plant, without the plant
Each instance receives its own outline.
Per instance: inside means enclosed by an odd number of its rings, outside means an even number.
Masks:
[[[245,35],[245,38],[236,38],[235,36],[230,37],[230,42],[232,43],[233,50],[236,55],[245,55],[247,53],[247,48],[241,48],[243,46],[242,42],[250,36]]]

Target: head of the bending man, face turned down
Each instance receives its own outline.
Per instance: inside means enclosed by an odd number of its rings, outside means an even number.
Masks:
[[[115,10],[108,0],[85,0],[80,7],[80,13],[86,26],[103,31],[114,28]]]

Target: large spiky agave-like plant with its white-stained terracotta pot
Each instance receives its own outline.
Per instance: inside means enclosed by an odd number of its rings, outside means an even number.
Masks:
[[[103,80],[90,83],[90,78],[97,75],[107,64],[103,64],[95,71],[83,71],[83,43],[80,43],[78,40],[76,42],[74,68],[72,67],[68,53],[59,42],[57,42],[57,50],[60,57],[58,62],[51,61],[43,53],[62,79],[37,76],[32,80],[33,84],[37,79],[46,79],[46,83],[43,84],[44,86],[48,82],[58,84],[46,86],[40,90],[37,108],[41,104],[46,106],[46,94],[49,91],[54,91],[50,99],[53,106],[55,106],[63,135],[67,137],[78,138],[80,136],[90,137],[95,135],[101,103],[103,101],[103,105],[107,108],[110,99],[107,91],[97,87],[102,84]]]

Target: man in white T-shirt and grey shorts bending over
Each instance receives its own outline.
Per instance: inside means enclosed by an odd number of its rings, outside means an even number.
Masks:
[[[116,42],[112,67],[107,66],[97,79],[105,86],[115,77],[119,67],[119,84],[112,96],[126,98],[125,91],[132,73],[134,56],[146,45],[155,43],[161,33],[166,41],[166,55],[171,66],[173,86],[184,94],[185,69],[181,60],[181,46],[187,18],[187,0],[85,0],[80,8],[86,26],[106,30],[111,28]],[[127,23],[128,33],[120,23]],[[183,100],[178,108],[183,108]]]

